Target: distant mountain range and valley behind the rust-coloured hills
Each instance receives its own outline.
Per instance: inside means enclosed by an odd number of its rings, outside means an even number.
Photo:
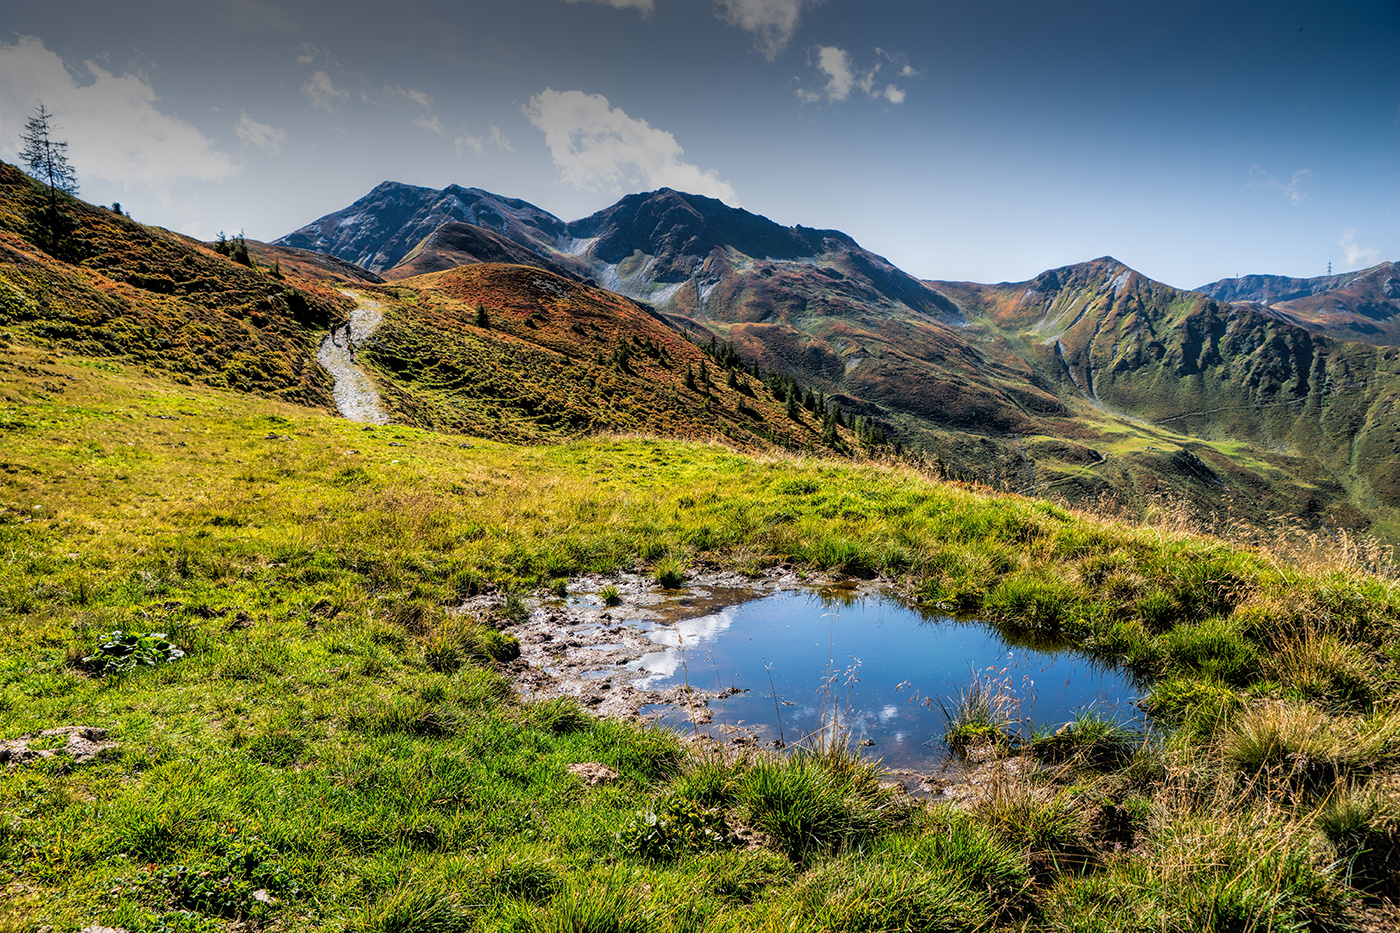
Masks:
[[[1110,256],[1029,282],[935,282],[840,231],[672,189],[564,221],[396,182],[277,244],[391,282],[512,262],[601,286],[1004,488],[1400,528],[1393,263],[1196,290]]]

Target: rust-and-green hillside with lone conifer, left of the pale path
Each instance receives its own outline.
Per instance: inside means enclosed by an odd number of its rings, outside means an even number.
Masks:
[[[49,255],[34,245],[48,242],[46,191],[0,163],[0,325],[206,385],[329,403],[315,335],[349,305],[343,296],[73,198]]]

